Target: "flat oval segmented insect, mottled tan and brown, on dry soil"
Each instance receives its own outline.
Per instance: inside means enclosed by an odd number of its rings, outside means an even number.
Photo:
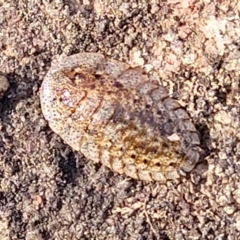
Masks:
[[[54,64],[40,92],[50,128],[87,159],[145,181],[190,172],[201,160],[195,126],[140,68],[99,53]]]

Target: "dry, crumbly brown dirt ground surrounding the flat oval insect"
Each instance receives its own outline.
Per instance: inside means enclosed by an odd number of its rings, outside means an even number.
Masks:
[[[0,0],[1,240],[240,239],[240,1]],[[44,120],[52,62],[141,66],[187,109],[205,161],[166,183],[87,161]]]

